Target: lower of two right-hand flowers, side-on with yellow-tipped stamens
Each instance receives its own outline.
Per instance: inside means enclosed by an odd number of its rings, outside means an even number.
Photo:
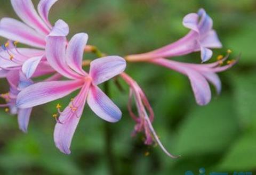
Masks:
[[[226,57],[223,58],[220,55],[219,61],[209,64],[182,63],[163,58],[149,60],[148,62],[185,74],[189,78],[197,104],[206,105],[211,101],[209,82],[215,87],[217,93],[220,94],[221,81],[217,73],[225,71],[237,63],[237,60],[231,60],[227,61],[227,65],[221,66],[228,59],[228,56],[229,52]]]

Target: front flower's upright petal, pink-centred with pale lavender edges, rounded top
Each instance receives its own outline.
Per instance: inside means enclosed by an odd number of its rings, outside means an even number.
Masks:
[[[88,35],[80,33],[74,35],[68,43],[67,47],[67,64],[71,69],[77,73],[85,75],[85,71],[82,69],[84,48],[87,44]]]

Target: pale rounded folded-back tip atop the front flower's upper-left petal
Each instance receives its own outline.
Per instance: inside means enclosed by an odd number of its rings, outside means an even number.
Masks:
[[[49,36],[52,37],[66,37],[69,33],[69,26],[63,20],[58,20],[55,22]]]

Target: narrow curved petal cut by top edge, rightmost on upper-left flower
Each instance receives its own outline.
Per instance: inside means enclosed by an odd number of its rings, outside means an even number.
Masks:
[[[37,6],[37,11],[43,21],[47,24],[49,28],[52,28],[51,23],[49,22],[48,16],[49,11],[53,4],[55,4],[58,0],[41,0]]]

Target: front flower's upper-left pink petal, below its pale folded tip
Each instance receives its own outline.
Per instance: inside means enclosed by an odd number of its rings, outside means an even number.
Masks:
[[[66,63],[66,38],[47,37],[46,58],[49,64],[57,72],[70,79],[77,79],[81,76],[71,70]]]

